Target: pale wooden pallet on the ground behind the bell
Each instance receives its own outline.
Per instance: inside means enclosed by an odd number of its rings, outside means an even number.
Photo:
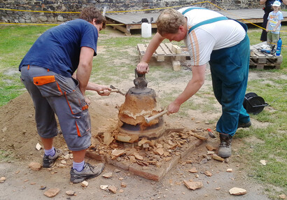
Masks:
[[[146,53],[147,44],[137,44],[137,49],[139,50],[139,57],[144,57]],[[174,71],[181,70],[181,61],[185,61],[186,59],[190,59],[189,52],[186,49],[180,48],[178,45],[173,45],[172,43],[161,43],[153,57],[158,62],[163,62],[167,60],[169,57],[172,60],[172,68]]]

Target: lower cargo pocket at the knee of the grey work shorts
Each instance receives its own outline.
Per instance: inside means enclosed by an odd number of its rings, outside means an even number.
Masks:
[[[91,120],[87,110],[83,110],[80,115],[75,115],[77,134],[79,137],[91,132]]]

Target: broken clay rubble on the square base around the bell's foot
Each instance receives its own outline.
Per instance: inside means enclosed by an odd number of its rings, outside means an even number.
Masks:
[[[208,138],[205,129],[186,128],[166,129],[163,136],[155,140],[135,137],[136,141],[132,143],[117,141],[119,135],[115,130],[94,136],[92,145],[87,150],[87,157],[157,181],[163,178],[179,159],[186,157]]]

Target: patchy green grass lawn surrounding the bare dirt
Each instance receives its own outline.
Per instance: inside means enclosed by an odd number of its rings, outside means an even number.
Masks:
[[[0,26],[0,106],[5,105],[11,99],[18,97],[26,91],[22,83],[20,83],[18,65],[27,50],[36,41],[36,38],[50,28],[50,26]],[[287,57],[287,26],[283,25],[282,30],[283,48],[281,55],[285,58]],[[125,49],[134,48],[137,43],[148,42],[148,39],[141,38],[139,34],[109,38],[109,34],[112,31],[112,29],[103,30],[101,34],[104,37],[98,43],[99,46],[104,46],[106,49],[105,54],[109,55],[109,57],[97,56],[97,59],[94,59],[94,66],[97,67],[92,69],[93,77],[97,72],[101,73],[101,76],[97,78],[103,84],[109,84],[111,78],[114,77],[117,77],[115,81],[125,79],[124,72],[133,71],[137,64],[137,60],[135,59],[134,63],[130,65],[115,63],[111,66],[111,60],[107,62],[107,59],[121,59]],[[251,39],[251,45],[260,43],[260,33],[261,29],[257,27],[249,28],[248,36]],[[115,74],[115,71],[119,70],[120,73]],[[258,70],[251,69],[251,71]],[[245,138],[253,136],[262,141],[262,143],[256,143],[252,150],[246,148],[240,150],[242,157],[244,157],[244,168],[248,169],[250,175],[263,185],[274,185],[274,187],[266,188],[268,188],[269,197],[276,199],[279,194],[279,192],[276,192],[276,187],[279,187],[280,190],[283,190],[283,193],[287,194],[287,59],[283,59],[281,69],[272,69],[268,70],[268,72],[272,76],[250,80],[247,92],[256,91],[261,97],[265,97],[265,101],[272,107],[274,110],[272,113],[265,109],[260,115],[251,115],[252,119],[258,122],[268,122],[269,125],[262,128],[251,127],[249,130],[240,129],[236,137]],[[162,73],[168,73],[167,69],[162,69]],[[163,78],[166,77],[163,76]],[[166,98],[166,101],[170,101],[169,95],[162,98],[163,100]],[[250,148],[250,145],[246,146]],[[5,152],[1,152],[1,154],[3,155]],[[266,166],[259,164],[261,159],[268,161]]]

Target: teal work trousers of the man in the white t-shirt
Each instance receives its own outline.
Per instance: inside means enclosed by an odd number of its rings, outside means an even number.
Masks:
[[[250,44],[246,34],[239,44],[214,50],[209,61],[214,95],[222,106],[216,131],[234,136],[238,123],[250,121],[243,107],[248,71]]]

